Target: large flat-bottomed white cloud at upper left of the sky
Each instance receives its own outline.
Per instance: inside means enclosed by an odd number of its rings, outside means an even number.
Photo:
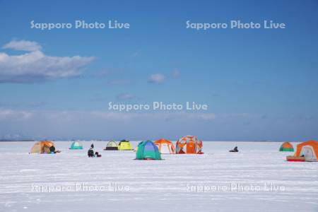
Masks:
[[[23,48],[23,45],[14,46],[11,43],[9,42],[4,47]],[[83,67],[94,59],[93,57],[81,56],[47,56],[38,50],[39,47],[36,45],[33,47],[29,45],[30,49],[35,49],[35,51],[20,55],[8,55],[0,52],[0,83],[36,83],[79,76]]]

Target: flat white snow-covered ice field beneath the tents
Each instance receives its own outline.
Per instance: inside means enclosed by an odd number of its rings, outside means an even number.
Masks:
[[[318,163],[286,162],[281,143],[204,141],[204,155],[164,160],[102,141],[102,158],[87,157],[90,141],[29,155],[33,143],[0,143],[0,211],[318,211]]]

